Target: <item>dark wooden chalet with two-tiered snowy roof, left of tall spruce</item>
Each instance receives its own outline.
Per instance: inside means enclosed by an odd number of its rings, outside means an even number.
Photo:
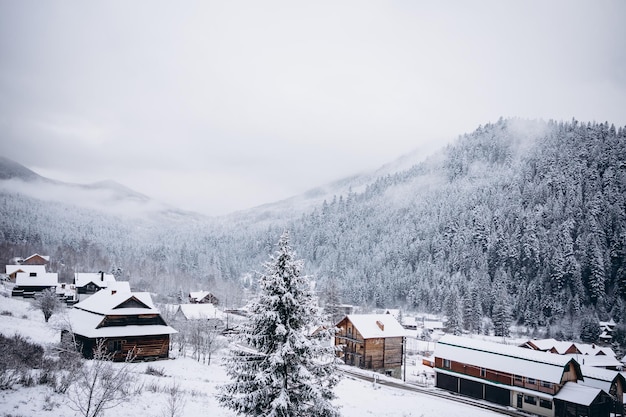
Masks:
[[[106,341],[113,359],[129,351],[136,360],[167,358],[170,335],[177,333],[161,317],[149,293],[103,289],[69,310],[71,331],[83,356],[93,356],[99,340]]]

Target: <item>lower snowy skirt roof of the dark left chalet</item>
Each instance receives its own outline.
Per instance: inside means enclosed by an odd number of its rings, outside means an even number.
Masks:
[[[153,336],[158,334],[177,333],[177,331],[170,326],[157,324],[107,326],[98,328],[98,325],[102,322],[104,316],[77,308],[70,309],[68,311],[68,316],[72,325],[72,332],[90,339],[105,337]]]

